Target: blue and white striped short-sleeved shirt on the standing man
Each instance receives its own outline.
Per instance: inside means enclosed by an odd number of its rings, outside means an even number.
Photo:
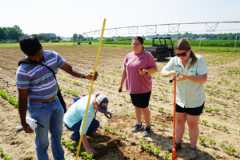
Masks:
[[[64,59],[55,51],[43,51],[43,64],[51,67],[55,73],[64,64]],[[21,64],[16,73],[16,85],[28,89],[29,99],[49,99],[57,96],[57,82],[53,73],[45,66]]]

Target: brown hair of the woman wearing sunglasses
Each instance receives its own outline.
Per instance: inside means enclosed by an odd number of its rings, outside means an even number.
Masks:
[[[190,57],[192,60],[191,60],[189,68],[197,62],[197,57],[196,57],[195,53],[192,51],[191,45],[188,42],[188,40],[186,40],[184,38],[179,39],[176,43],[175,49],[185,50],[185,51],[191,50]]]

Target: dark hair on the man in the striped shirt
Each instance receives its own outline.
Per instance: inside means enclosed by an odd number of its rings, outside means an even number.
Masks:
[[[42,45],[35,36],[24,36],[20,39],[20,48],[27,56],[33,56],[42,49]]]

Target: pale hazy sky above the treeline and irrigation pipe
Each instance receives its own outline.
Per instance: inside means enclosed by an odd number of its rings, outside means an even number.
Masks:
[[[0,26],[61,36],[107,27],[240,20],[239,0],[0,0]]]

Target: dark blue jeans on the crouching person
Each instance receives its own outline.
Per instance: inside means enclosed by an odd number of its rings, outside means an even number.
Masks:
[[[81,124],[82,124],[82,120],[79,121],[78,123],[74,124],[71,128],[69,128],[67,125],[66,127],[73,131],[72,135],[71,135],[71,139],[73,141],[79,141],[80,139],[80,128],[81,128]],[[97,129],[99,128],[100,124],[99,121],[96,119],[93,119],[92,123],[90,124],[88,130],[87,130],[87,134],[88,136],[90,136],[93,133],[96,133]]]

